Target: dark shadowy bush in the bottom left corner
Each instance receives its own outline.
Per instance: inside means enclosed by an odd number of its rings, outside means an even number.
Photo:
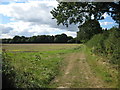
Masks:
[[[6,52],[2,52],[2,88],[15,88],[15,71],[11,66],[10,57]]]

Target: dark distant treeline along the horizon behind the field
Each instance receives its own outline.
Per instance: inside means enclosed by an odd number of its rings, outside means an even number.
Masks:
[[[76,39],[66,34],[55,36],[38,35],[32,37],[15,36],[12,39],[2,39],[2,43],[76,43]]]

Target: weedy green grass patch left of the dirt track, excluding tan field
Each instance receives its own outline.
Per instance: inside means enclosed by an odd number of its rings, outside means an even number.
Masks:
[[[62,60],[58,56],[50,57],[49,54],[40,53],[17,53],[11,57],[14,57],[12,64],[17,71],[16,79],[19,79],[16,81],[19,84],[17,86],[22,88],[47,87],[57,74],[59,62]]]

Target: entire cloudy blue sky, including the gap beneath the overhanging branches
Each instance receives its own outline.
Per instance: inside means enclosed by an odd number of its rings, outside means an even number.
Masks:
[[[77,25],[72,24],[68,28],[58,26],[56,20],[52,19],[50,11],[57,5],[55,0],[0,0],[0,38],[62,33],[76,37]],[[102,28],[117,25],[106,13],[104,17],[99,21]]]

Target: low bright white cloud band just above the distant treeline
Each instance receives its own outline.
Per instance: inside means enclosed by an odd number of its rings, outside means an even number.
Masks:
[[[13,29],[7,33],[2,33],[0,38],[12,38],[15,35],[19,36],[33,36],[33,35],[56,35],[65,33],[69,36],[75,37],[75,33],[73,31],[61,30],[59,28],[53,28],[49,25],[31,25],[29,22],[11,22],[6,25],[2,24],[3,27],[12,27]]]

